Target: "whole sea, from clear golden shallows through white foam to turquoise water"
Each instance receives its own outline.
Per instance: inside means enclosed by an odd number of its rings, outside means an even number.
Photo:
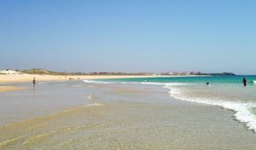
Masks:
[[[254,150],[255,80],[209,76],[6,84],[25,89],[0,93],[0,149]]]

